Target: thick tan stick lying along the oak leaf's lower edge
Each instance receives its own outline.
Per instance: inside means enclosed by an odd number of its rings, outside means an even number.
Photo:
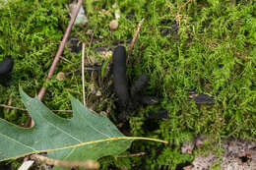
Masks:
[[[46,163],[48,165],[60,166],[60,167],[82,167],[85,169],[98,169],[99,164],[94,160],[87,160],[84,162],[81,161],[64,161],[64,160],[56,160],[51,159],[42,155],[33,154],[31,156],[33,160],[38,160],[40,162]]]

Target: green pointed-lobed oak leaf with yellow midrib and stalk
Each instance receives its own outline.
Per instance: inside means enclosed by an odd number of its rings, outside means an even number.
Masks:
[[[0,119],[0,161],[38,152],[47,152],[48,157],[60,160],[96,160],[106,155],[118,155],[134,140],[163,142],[125,137],[108,118],[90,111],[73,97],[73,118],[63,119],[22,88],[20,93],[34,126],[22,128]]]

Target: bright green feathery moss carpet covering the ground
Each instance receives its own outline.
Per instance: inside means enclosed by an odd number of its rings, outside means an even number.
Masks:
[[[120,9],[119,27],[110,33],[108,24],[114,19],[112,8]],[[15,60],[13,80],[8,87],[0,86],[0,103],[23,107],[19,85],[30,95],[44,85],[48,69],[69,22],[68,0],[11,1],[0,8],[0,59],[12,56]],[[90,6],[89,6],[90,4]],[[95,31],[89,49],[111,48],[123,42],[126,49],[144,19],[139,37],[128,61],[128,78],[132,83],[140,75],[150,76],[145,93],[160,97],[160,106],[168,111],[168,120],[150,122],[145,114],[156,107],[138,108],[130,118],[133,136],[151,137],[172,143],[134,142],[126,153],[145,151],[144,156],[132,158],[103,158],[103,168],[127,166],[144,169],[175,169],[178,164],[193,160],[182,154],[180,144],[199,134],[222,138],[255,139],[256,135],[256,2],[221,0],[120,0],[88,1],[89,23],[74,28],[87,43]],[[52,12],[49,15],[49,12]],[[178,25],[174,30],[172,24]],[[164,33],[165,32],[165,33]],[[163,35],[164,34],[164,35]],[[86,49],[86,50],[87,50]],[[70,109],[69,95],[82,101],[82,80],[73,74],[65,81],[55,79],[58,72],[71,72],[81,66],[81,52],[65,48],[63,55],[75,65],[61,60],[43,102],[51,109]],[[102,59],[103,60],[103,59]],[[90,77],[86,79],[89,93]],[[107,86],[107,85],[104,85]],[[103,87],[101,87],[103,88]],[[215,96],[214,105],[196,105],[188,98],[188,90]],[[103,97],[103,96],[102,96]],[[96,111],[104,111],[113,97],[100,100]],[[99,102],[98,102],[99,103]],[[110,104],[113,108],[113,104]],[[0,116],[22,125],[28,115],[18,110],[0,108]],[[113,111],[110,116],[113,117]],[[70,113],[58,113],[71,117]],[[112,118],[113,119],[113,118]]]

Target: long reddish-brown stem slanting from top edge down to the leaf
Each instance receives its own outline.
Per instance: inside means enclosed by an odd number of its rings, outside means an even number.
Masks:
[[[52,65],[51,65],[51,67],[50,67],[48,76],[47,76],[47,78],[46,78],[46,82],[48,82],[48,81],[51,79],[51,76],[52,76],[53,73],[54,73],[54,70],[55,70],[55,68],[56,68],[56,66],[57,66],[57,63],[58,63],[59,59],[60,59],[60,55],[62,54],[63,49],[64,49],[64,46],[65,46],[65,43],[66,43],[66,41],[67,41],[67,39],[68,39],[69,33],[70,33],[70,31],[71,31],[71,29],[72,29],[72,27],[73,27],[74,22],[76,21],[76,18],[77,18],[77,16],[78,16],[79,10],[80,10],[80,8],[81,8],[81,6],[82,6],[82,2],[83,2],[83,0],[79,0],[79,1],[78,1],[77,8],[76,8],[75,12],[72,14],[71,20],[70,20],[70,22],[69,22],[69,26],[68,26],[68,28],[66,29],[66,32],[65,32],[65,34],[64,34],[64,36],[63,36],[63,39],[62,39],[62,41],[61,41],[61,43],[60,43],[59,49],[58,49],[58,51],[57,51],[57,53],[56,53],[56,56],[55,56],[55,58],[54,58],[54,60],[53,60],[53,62],[52,62]],[[45,91],[46,91],[46,87],[45,87],[45,86],[42,86],[41,89],[40,89],[40,91],[39,91],[39,94],[38,94],[38,98],[39,98],[40,100],[42,99],[42,97],[43,97]]]

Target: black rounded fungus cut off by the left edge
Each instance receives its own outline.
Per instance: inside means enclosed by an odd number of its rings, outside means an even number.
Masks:
[[[10,57],[0,62],[0,84],[7,86],[12,78],[11,72],[13,70],[14,60]]]

